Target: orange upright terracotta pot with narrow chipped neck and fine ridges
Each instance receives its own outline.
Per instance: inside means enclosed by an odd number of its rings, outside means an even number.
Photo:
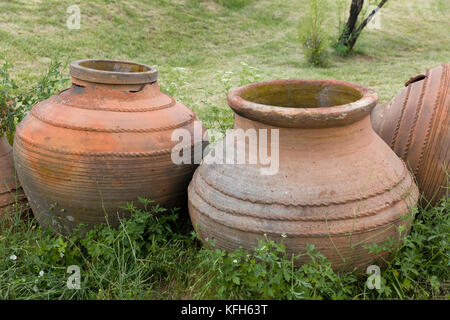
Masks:
[[[203,128],[163,94],[154,67],[82,60],[72,86],[38,103],[17,127],[17,172],[37,220],[70,232],[83,223],[116,226],[138,197],[183,207],[195,164],[171,161],[173,130]],[[200,148],[201,151],[201,148]]]

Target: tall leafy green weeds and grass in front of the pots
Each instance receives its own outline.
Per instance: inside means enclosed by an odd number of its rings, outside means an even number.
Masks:
[[[333,271],[313,246],[300,253],[311,261],[295,268],[297,257],[281,238],[261,241],[252,253],[206,249],[186,214],[144,203],[145,210],[129,205],[133,217],[117,229],[70,237],[20,219],[16,210],[0,223],[0,299],[450,298],[450,199],[421,210],[400,246],[390,239],[367,246],[392,255],[379,290],[366,287],[367,274]],[[80,290],[66,286],[72,265],[81,269]]]

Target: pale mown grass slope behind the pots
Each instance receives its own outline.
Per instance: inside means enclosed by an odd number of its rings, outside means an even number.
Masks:
[[[222,79],[241,85],[244,62],[263,80],[353,81],[375,89],[383,102],[411,76],[450,60],[450,6],[441,0],[390,1],[381,11],[382,30],[364,31],[356,55],[332,56],[325,69],[309,67],[302,56],[302,1],[75,1],[81,29],[69,30],[66,9],[73,3],[0,1],[0,57],[13,64],[21,86],[31,86],[52,59],[129,59],[158,66],[162,87],[175,82],[175,98],[199,111],[226,108]],[[331,33],[336,19],[331,11]]]

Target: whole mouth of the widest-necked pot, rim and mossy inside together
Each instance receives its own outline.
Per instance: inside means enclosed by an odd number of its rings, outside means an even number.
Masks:
[[[257,82],[228,94],[228,104],[238,115],[290,128],[348,125],[368,116],[377,102],[372,89],[320,79]]]

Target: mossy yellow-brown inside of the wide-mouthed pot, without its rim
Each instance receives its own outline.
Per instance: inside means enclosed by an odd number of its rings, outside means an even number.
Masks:
[[[247,101],[283,108],[323,108],[355,102],[363,93],[350,86],[328,82],[261,83],[241,93]]]

